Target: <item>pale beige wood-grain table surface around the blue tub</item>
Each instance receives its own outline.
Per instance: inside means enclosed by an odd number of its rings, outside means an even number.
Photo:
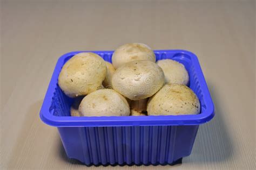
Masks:
[[[87,168],[66,157],[39,109],[60,55],[126,42],[196,53],[215,117],[183,164],[123,169],[256,168],[254,1],[70,0],[1,2],[0,169]]]

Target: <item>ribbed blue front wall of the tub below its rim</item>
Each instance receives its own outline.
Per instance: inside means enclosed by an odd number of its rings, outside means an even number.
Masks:
[[[68,157],[86,165],[165,165],[190,155],[198,127],[61,127],[58,130]]]

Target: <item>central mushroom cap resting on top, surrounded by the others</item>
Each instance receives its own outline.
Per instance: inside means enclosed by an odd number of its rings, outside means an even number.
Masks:
[[[157,93],[164,84],[164,72],[154,62],[136,60],[114,72],[113,89],[130,100],[142,100]]]

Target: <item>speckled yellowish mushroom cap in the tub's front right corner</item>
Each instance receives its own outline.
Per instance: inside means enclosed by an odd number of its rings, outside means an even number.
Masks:
[[[148,115],[195,115],[199,112],[197,95],[183,84],[166,84],[147,103]]]

